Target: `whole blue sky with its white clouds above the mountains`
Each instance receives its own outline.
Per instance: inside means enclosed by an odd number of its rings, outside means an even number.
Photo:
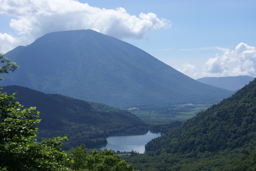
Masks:
[[[87,3],[87,4],[86,4]],[[0,0],[0,51],[93,29],[194,78],[256,77],[256,1]]]

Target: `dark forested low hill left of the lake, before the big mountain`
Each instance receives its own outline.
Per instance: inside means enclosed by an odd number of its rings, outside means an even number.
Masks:
[[[40,141],[53,136],[68,136],[69,141],[64,143],[66,150],[82,143],[86,146],[106,143],[106,139],[97,137],[147,126],[130,112],[101,103],[45,94],[21,86],[5,86],[2,90],[9,95],[16,91],[17,101],[24,108],[33,106],[40,112],[36,138]]]

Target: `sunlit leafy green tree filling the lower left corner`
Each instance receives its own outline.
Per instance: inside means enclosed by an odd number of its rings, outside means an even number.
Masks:
[[[0,170],[70,170],[58,164],[67,155],[59,148],[67,137],[36,142],[39,112],[22,109],[15,94],[0,94]]]

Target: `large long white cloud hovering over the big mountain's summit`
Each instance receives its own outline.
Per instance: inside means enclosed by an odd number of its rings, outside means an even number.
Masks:
[[[49,32],[79,29],[92,29],[118,39],[142,39],[152,29],[171,26],[169,20],[159,19],[154,13],[136,17],[122,7],[100,9],[75,0],[2,0],[0,15],[13,16],[10,27],[17,35],[33,39]]]

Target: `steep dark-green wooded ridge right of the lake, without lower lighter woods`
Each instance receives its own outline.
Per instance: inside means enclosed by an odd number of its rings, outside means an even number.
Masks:
[[[256,82],[146,144],[155,154],[198,153],[256,145]]]

